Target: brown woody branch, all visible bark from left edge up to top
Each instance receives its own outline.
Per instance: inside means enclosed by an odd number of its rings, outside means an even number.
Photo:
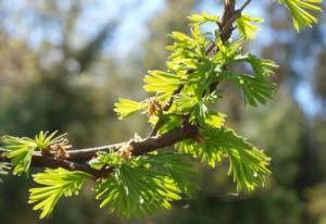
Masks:
[[[223,42],[226,42],[234,30],[233,24],[234,22],[241,16],[242,10],[251,2],[251,0],[247,0],[239,10],[235,10],[235,0],[226,0],[224,4],[224,12],[222,16],[222,23],[220,24],[220,36]],[[215,42],[211,42],[211,45],[206,48],[206,54],[213,54],[218,52],[217,46]],[[190,75],[190,72],[189,72]],[[212,84],[210,86],[210,90],[214,90],[218,83]],[[173,92],[170,101],[164,105],[163,111],[168,111],[173,104],[174,96],[180,94],[184,88],[184,84],[180,84],[175,91]],[[197,137],[198,127],[189,124],[188,122],[184,123],[180,127],[175,128],[166,134],[156,136],[158,130],[163,125],[163,121],[159,120],[154,125],[150,137],[141,140],[129,140],[126,142],[106,145],[96,148],[89,149],[78,149],[78,150],[67,150],[67,154],[70,155],[66,159],[55,158],[54,155],[43,155],[40,152],[35,152],[32,160],[32,165],[36,167],[63,167],[68,171],[83,171],[91,174],[95,177],[108,176],[113,167],[108,167],[106,170],[95,170],[90,167],[87,162],[97,155],[99,151],[109,151],[110,149],[118,150],[123,145],[129,145],[133,148],[133,155],[140,155],[148,153],[150,151],[154,151],[158,149],[162,149],[167,146],[173,146],[176,142],[179,142],[185,139],[191,139]],[[0,162],[10,160],[3,155],[3,152],[8,152],[5,149],[0,148]]]

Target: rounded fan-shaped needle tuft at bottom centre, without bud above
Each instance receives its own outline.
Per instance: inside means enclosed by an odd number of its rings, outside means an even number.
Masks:
[[[100,208],[109,207],[109,213],[115,211],[122,217],[154,214],[180,199],[180,190],[168,175],[137,161],[115,167],[114,174],[101,181],[96,190]]]

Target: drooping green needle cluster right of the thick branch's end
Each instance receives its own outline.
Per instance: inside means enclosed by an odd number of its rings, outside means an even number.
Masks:
[[[176,148],[184,153],[201,158],[212,167],[215,167],[215,163],[223,157],[227,157],[228,174],[234,176],[237,190],[253,190],[261,186],[271,173],[267,169],[269,158],[230,129],[205,128],[201,132],[201,139],[198,142],[185,140],[176,144]]]

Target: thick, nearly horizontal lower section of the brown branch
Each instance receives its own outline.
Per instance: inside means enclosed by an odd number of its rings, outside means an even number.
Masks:
[[[140,155],[149,151],[154,151],[162,149],[167,146],[173,146],[174,144],[189,138],[195,138],[197,136],[198,128],[193,125],[187,124],[183,127],[176,128],[165,135],[151,137],[141,140],[131,140],[122,144],[114,144],[108,146],[101,146],[90,149],[79,149],[79,150],[67,150],[66,153],[70,155],[66,159],[54,158],[53,155],[42,155],[40,152],[35,152],[32,159],[32,165],[36,167],[63,167],[68,171],[83,171],[93,175],[95,177],[101,177],[108,175],[112,169],[106,170],[95,170],[91,169],[86,162],[97,155],[99,151],[109,151],[109,149],[117,150],[124,144],[128,144],[133,147],[133,154]],[[8,152],[5,149],[0,149],[0,154]],[[0,162],[10,162],[4,155],[0,155]]]

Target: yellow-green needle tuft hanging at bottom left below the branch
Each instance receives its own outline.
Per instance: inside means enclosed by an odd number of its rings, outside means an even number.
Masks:
[[[41,210],[40,219],[49,216],[62,196],[77,195],[89,174],[70,172],[64,169],[50,170],[33,175],[34,181],[45,187],[29,189],[28,203],[36,203],[34,210]]]

